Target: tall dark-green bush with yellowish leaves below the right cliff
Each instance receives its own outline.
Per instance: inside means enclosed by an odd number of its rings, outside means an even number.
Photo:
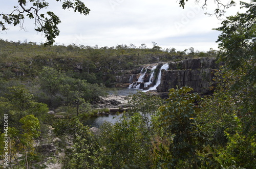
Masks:
[[[189,87],[170,89],[166,105],[160,107],[161,126],[174,135],[173,143],[169,145],[172,159],[165,164],[169,167],[178,165],[179,160],[184,165],[188,160],[189,166],[197,168],[200,162],[196,152],[201,149],[205,140],[204,133],[197,127],[198,108],[194,104],[200,97],[197,93],[188,93],[192,90]]]

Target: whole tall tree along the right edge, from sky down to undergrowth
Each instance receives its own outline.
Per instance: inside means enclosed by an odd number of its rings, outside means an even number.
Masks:
[[[242,8],[247,8],[245,13],[227,17],[222,22],[218,31],[222,31],[217,42],[223,51],[219,55],[219,61],[225,62],[225,69],[236,73],[234,82],[230,87],[231,93],[240,97],[240,106],[244,130],[253,131],[255,127],[256,112],[256,4],[255,0],[244,3]],[[245,132],[245,133],[247,133]],[[255,131],[254,131],[255,133]],[[253,133],[252,133],[253,134]]]

